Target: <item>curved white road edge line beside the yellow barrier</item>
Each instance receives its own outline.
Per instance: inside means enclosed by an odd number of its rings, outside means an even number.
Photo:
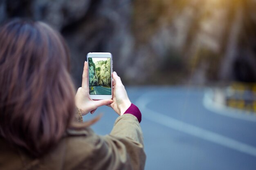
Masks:
[[[236,119],[243,119],[247,121],[256,122],[255,113],[239,110],[236,108],[231,108],[231,107],[214,102],[213,91],[211,90],[207,90],[204,93],[203,105],[205,108],[212,111],[213,113],[218,113],[220,115],[224,115],[224,116],[228,116]],[[246,113],[249,113],[249,114],[246,114]]]

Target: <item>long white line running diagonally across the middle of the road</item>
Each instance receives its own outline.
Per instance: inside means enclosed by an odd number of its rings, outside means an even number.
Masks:
[[[167,126],[168,128],[172,128],[172,129],[184,132],[186,134],[198,137],[200,139],[204,139],[204,140],[213,142],[215,144],[219,144],[221,146],[225,146],[227,148],[237,150],[237,151],[256,157],[256,148],[254,146],[250,146],[243,142],[236,141],[229,137],[225,137],[216,132],[211,132],[209,130],[205,130],[197,126],[187,124],[183,121],[166,116],[162,113],[152,111],[146,108],[146,105],[149,102],[150,100],[148,99],[148,97],[146,97],[146,95],[142,95],[135,102],[136,105],[145,113],[143,114],[144,118],[150,121],[154,121],[155,123]]]

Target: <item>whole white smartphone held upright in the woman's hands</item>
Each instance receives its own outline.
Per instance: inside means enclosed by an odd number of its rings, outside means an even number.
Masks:
[[[87,63],[91,99],[112,99],[112,54],[88,53]]]

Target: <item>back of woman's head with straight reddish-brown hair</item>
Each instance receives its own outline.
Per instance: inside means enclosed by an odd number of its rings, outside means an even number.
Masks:
[[[61,35],[42,22],[0,27],[0,136],[40,156],[70,125],[74,88]]]

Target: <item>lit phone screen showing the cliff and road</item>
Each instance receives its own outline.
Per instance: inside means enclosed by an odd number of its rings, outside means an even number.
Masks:
[[[110,58],[89,57],[90,95],[111,95]]]

